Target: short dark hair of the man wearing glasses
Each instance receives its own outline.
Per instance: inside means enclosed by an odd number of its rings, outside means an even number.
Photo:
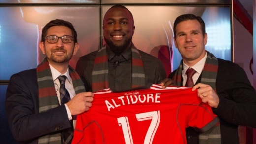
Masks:
[[[60,20],[60,19],[52,20],[43,27],[41,42],[45,41],[45,37],[47,36],[48,29],[53,26],[65,26],[65,27],[68,27],[69,29],[71,29],[72,36],[74,37],[74,42],[77,43],[77,33],[75,31],[74,26],[70,22]]]

